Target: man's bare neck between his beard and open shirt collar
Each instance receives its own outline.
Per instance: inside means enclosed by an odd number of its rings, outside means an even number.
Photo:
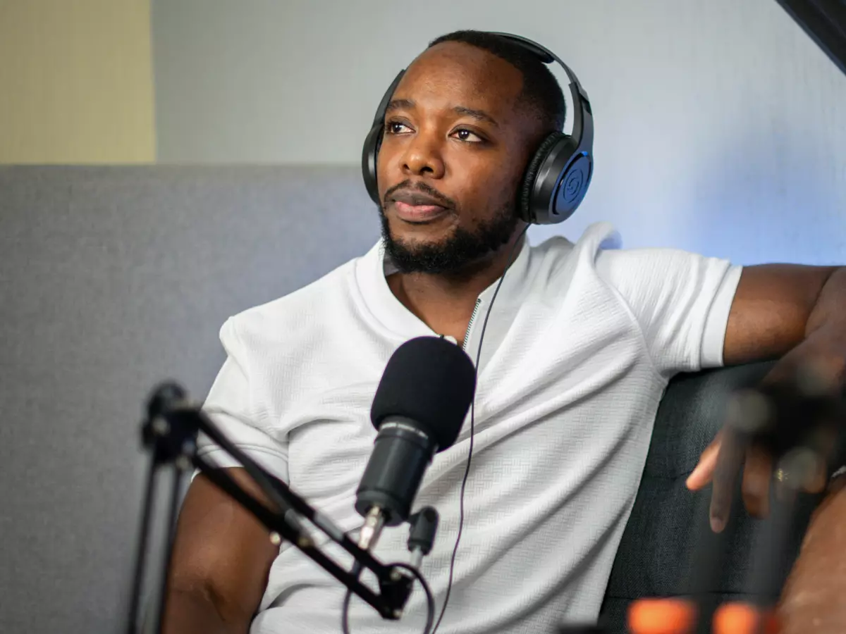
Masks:
[[[515,249],[518,239],[520,243]],[[431,330],[453,336],[461,343],[476,299],[503,275],[509,256],[516,256],[524,239],[521,232],[515,232],[495,254],[460,272],[394,273],[387,277],[387,285],[399,302]]]

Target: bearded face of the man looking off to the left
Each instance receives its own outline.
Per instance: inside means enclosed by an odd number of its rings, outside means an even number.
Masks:
[[[540,132],[517,68],[444,42],[412,63],[385,116],[376,162],[387,252],[404,272],[459,273],[508,242]]]

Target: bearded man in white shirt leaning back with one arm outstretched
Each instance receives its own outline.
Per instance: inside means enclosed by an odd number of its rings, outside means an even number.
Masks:
[[[442,634],[543,632],[596,618],[673,374],[783,356],[771,382],[809,360],[830,385],[843,381],[842,268],[741,270],[670,249],[607,249],[604,224],[575,244],[522,243],[519,183],[541,139],[561,129],[563,108],[546,67],[501,38],[464,31],[434,41],[387,110],[377,160],[383,244],[222,328],[229,356],[209,411],[230,413],[217,419],[244,451],[354,531],[354,491],[375,433],[369,407],[387,358],[411,337],[442,335],[475,359],[484,320],[474,314],[491,309],[452,572],[469,426],[437,455],[416,501],[442,515],[422,567],[438,609],[451,588]],[[213,446],[203,451],[233,467]],[[716,473],[716,530],[737,456],[733,436],[722,435],[689,480],[700,488]],[[766,511],[770,472],[769,456],[751,449],[750,511]],[[406,559],[404,539],[387,530],[376,555]],[[179,520],[168,632],[244,632],[250,623],[252,632],[338,631],[342,590],[195,479]],[[354,601],[350,630],[422,631],[420,594],[399,623]]]

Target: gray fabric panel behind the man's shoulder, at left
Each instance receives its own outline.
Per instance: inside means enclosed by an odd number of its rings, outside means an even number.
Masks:
[[[0,167],[0,631],[117,631],[167,377],[378,238],[354,167]]]

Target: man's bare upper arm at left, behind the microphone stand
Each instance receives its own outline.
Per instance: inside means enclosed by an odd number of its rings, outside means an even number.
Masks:
[[[228,473],[264,500],[243,468]],[[164,634],[246,634],[277,553],[266,527],[198,475],[179,513]]]

